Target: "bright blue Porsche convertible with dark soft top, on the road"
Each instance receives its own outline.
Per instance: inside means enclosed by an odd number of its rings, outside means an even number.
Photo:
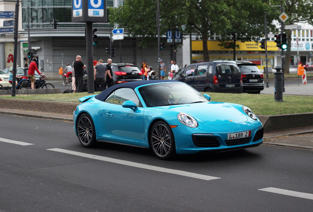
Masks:
[[[170,159],[263,142],[263,125],[250,108],[211,102],[180,81],[121,83],[79,101],[74,130],[84,147],[114,142],[151,148],[158,158]]]

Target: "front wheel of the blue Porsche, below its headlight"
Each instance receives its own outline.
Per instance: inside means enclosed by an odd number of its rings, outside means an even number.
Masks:
[[[150,146],[159,159],[171,159],[176,154],[174,134],[164,121],[158,121],[153,125]]]

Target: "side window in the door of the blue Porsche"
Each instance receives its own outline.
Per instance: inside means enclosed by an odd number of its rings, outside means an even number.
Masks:
[[[133,101],[136,106],[139,106],[140,102],[135,92],[130,88],[120,88],[114,91],[104,102],[112,103],[116,105],[122,105],[126,101]]]

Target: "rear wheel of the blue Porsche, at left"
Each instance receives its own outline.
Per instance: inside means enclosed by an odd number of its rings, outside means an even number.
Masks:
[[[96,143],[94,122],[87,113],[82,114],[76,124],[78,140],[84,147],[93,147]]]

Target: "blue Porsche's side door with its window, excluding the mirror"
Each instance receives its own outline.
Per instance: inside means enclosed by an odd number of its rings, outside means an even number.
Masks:
[[[113,96],[112,96],[113,95]],[[145,142],[143,114],[144,109],[135,94],[130,88],[120,88],[116,90],[106,102],[111,103],[105,111],[106,127],[111,135],[121,138],[119,142],[127,144],[136,144]],[[130,108],[125,108],[122,104],[125,101],[133,101],[138,110],[134,111]]]

